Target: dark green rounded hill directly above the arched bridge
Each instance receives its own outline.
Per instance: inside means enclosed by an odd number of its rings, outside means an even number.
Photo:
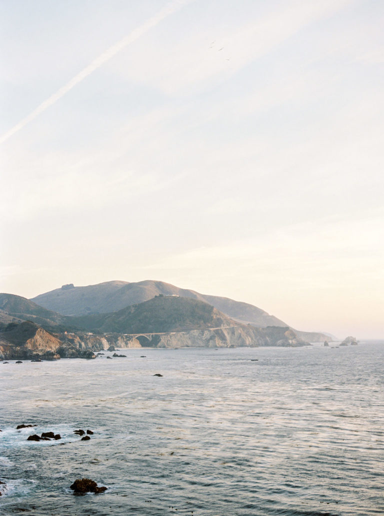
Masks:
[[[71,317],[78,328],[115,333],[164,333],[236,326],[212,305],[198,299],[156,296],[109,314]]]

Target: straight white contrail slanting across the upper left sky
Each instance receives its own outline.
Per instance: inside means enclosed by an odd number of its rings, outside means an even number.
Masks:
[[[23,120],[21,120],[18,124],[14,125],[9,131],[7,131],[7,133],[3,134],[0,137],[0,143],[6,141],[10,136],[22,129],[25,125],[27,125],[27,123],[39,116],[43,111],[45,111],[45,109],[52,106],[55,102],[61,99],[63,95],[68,93],[74,86],[76,86],[76,84],[82,82],[82,80],[85,79],[88,75],[90,75],[92,72],[104,65],[105,62],[109,61],[109,59],[111,59],[118,52],[124,49],[125,46],[137,40],[149,29],[151,29],[152,27],[160,23],[162,20],[164,20],[164,18],[167,18],[167,16],[169,16],[173,12],[177,11],[178,9],[180,9],[186,4],[189,4],[192,1],[193,0],[175,0],[174,2],[171,2],[157,14],[149,18],[142,25],[134,29],[131,32],[131,34],[125,36],[125,38],[120,40],[115,45],[110,46],[108,50],[100,54],[100,56],[94,59],[90,63],[90,65],[86,66],[81,72],[75,75],[66,85],[62,86],[59,90],[56,91],[56,93],[54,93],[44,102],[42,102],[40,106],[38,106],[34,111],[29,113],[29,115],[23,118]]]

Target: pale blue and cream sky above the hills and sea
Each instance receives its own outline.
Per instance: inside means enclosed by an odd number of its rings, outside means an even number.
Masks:
[[[380,0],[3,0],[0,291],[161,280],[384,338]]]

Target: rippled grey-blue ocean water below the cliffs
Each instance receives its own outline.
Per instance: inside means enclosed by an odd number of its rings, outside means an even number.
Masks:
[[[0,513],[384,513],[384,342],[121,352],[0,363]]]

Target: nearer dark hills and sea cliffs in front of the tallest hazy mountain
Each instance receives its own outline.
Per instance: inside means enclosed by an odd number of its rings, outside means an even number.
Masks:
[[[175,348],[307,344],[288,327],[242,325],[204,301],[173,295],[160,294],[117,312],[78,317],[61,316],[21,296],[2,294],[0,299],[1,359],[95,358],[94,351],[115,345]],[[41,326],[36,324],[37,319]]]

